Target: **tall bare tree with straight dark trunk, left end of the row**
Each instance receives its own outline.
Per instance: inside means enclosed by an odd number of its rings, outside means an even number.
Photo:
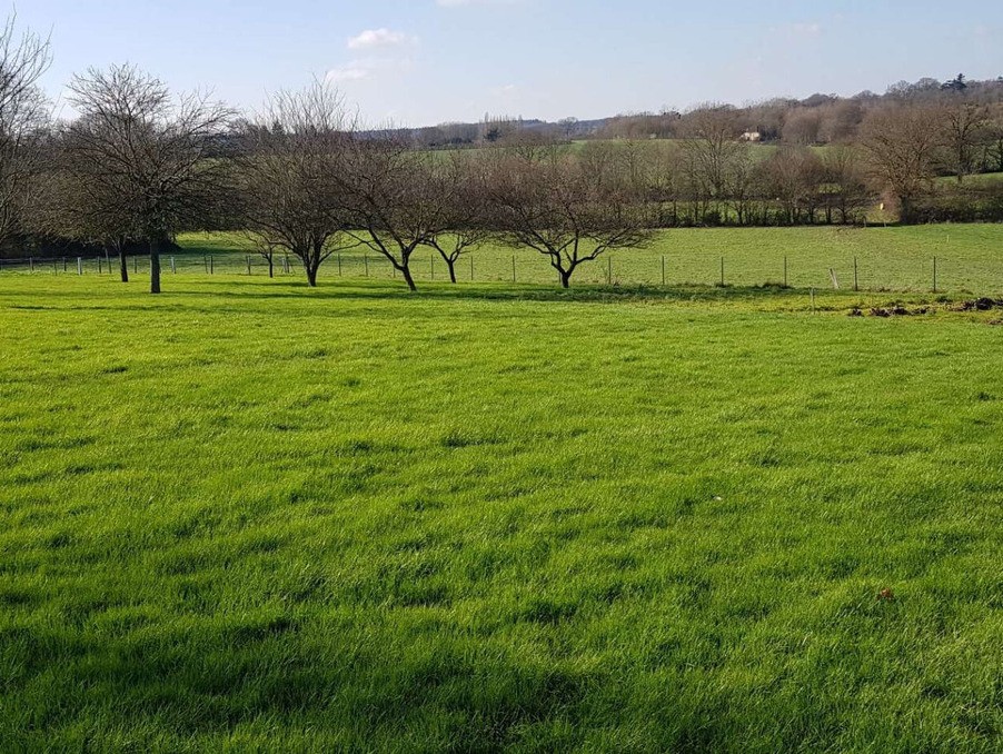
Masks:
[[[234,112],[202,95],[173,97],[132,66],[90,69],[69,89],[80,113],[68,135],[72,170],[120,198],[119,235],[148,244],[150,292],[159,294],[162,245],[215,225],[227,204],[229,166],[211,158]]]

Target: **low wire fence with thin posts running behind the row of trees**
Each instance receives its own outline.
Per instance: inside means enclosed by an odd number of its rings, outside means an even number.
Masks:
[[[130,276],[149,276],[148,256],[130,256]],[[161,274],[196,276],[267,277],[268,261],[257,255],[163,255]],[[448,281],[445,260],[435,252],[411,257],[417,281]],[[115,257],[59,257],[0,259],[0,277],[11,275],[119,276]],[[276,278],[305,277],[294,256],[276,256]],[[509,282],[557,285],[557,271],[542,255],[475,251],[455,265],[457,282]],[[320,279],[400,279],[400,272],[383,256],[368,252],[332,255],[320,267]],[[861,291],[982,292],[1003,291],[1003,258],[976,261],[952,257],[842,256],[832,259],[782,255],[733,255],[644,252],[607,254],[575,270],[573,285],[605,286],[787,286],[838,288]]]

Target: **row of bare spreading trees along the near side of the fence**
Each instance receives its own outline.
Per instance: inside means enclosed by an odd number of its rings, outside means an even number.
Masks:
[[[455,281],[460,256],[490,237],[546,255],[567,286],[578,265],[643,244],[656,225],[622,160],[539,145],[416,150],[360,129],[321,82],[278,93],[237,138],[235,112],[172,97],[133,67],[78,76],[70,92],[78,116],[47,141],[28,221],[101,244],[123,280],[127,250],[148,247],[152,292],[162,246],[195,228],[239,228],[269,262],[295,255],[310,286],[332,254],[367,247],[415,289],[419,248],[438,251]]]

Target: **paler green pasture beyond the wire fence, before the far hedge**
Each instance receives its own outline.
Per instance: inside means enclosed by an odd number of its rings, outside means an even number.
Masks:
[[[180,252],[161,255],[161,270],[173,275],[268,275],[268,262],[236,234],[191,234]],[[128,258],[130,276],[149,275],[148,256]],[[446,262],[420,249],[411,257],[419,285],[446,282]],[[304,279],[299,260],[277,254],[279,279]],[[86,256],[0,259],[0,277],[34,275],[118,276],[116,257]],[[458,284],[556,286],[546,257],[529,249],[485,246],[456,264]],[[383,256],[360,248],[332,255],[319,279],[400,279]],[[652,248],[617,250],[575,270],[573,286],[790,286],[861,291],[1003,294],[1003,225],[925,226],[861,230],[676,230]]]

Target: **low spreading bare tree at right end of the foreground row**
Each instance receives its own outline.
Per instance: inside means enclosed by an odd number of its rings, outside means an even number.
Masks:
[[[503,239],[547,257],[564,288],[579,265],[642,247],[653,235],[645,197],[630,189],[624,171],[596,165],[567,153],[535,161],[504,155],[493,169],[490,198]]]

